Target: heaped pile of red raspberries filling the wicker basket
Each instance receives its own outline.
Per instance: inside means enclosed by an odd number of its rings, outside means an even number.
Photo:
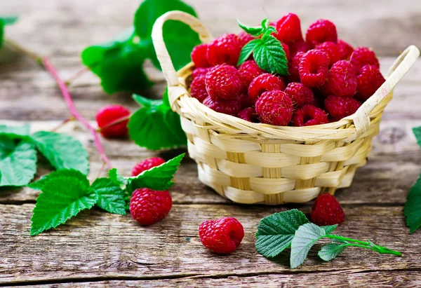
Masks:
[[[288,76],[267,73],[253,56],[237,66],[241,49],[254,38],[224,34],[192,51],[192,97],[253,123],[309,126],[354,114],[385,82],[375,53],[338,39],[330,21],[314,22],[305,39],[293,13],[271,25],[288,60]]]

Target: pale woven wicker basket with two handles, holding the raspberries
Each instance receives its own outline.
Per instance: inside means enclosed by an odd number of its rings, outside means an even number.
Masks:
[[[355,114],[341,121],[309,127],[249,123],[190,97],[187,84],[194,65],[175,71],[162,37],[166,20],[185,22],[203,43],[212,38],[198,19],[180,11],[162,15],[152,31],[171,107],[181,116],[199,179],[236,203],[304,203],[319,193],[333,194],[351,185],[356,169],[366,164],[394,86],[420,55],[415,46],[403,51],[387,81]]]

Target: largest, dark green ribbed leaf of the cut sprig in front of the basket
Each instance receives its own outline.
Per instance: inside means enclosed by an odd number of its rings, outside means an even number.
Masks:
[[[291,245],[295,231],[306,223],[309,220],[305,214],[296,209],[263,218],[256,233],[256,250],[265,257],[278,256]]]

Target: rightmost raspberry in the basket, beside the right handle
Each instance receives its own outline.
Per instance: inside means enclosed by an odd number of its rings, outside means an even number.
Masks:
[[[356,81],[356,99],[366,101],[386,80],[377,67],[365,65],[356,76]]]

